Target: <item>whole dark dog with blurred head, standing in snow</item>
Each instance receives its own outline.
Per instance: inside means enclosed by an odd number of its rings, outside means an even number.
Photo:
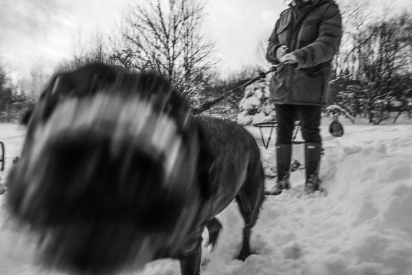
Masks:
[[[161,258],[198,275],[201,234],[236,199],[239,259],[264,199],[255,139],[233,122],[194,116],[168,81],[93,64],[57,74],[28,122],[8,206],[41,236],[41,262],[113,274]]]

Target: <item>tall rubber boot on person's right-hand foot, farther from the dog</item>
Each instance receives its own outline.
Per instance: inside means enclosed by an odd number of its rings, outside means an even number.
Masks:
[[[319,190],[319,168],[321,165],[322,144],[306,143],[305,144],[305,165],[306,165],[306,183],[305,192],[310,194]]]

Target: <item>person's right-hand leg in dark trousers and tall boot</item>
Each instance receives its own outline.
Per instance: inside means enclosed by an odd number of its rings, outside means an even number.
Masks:
[[[297,115],[301,123],[302,136],[305,140],[306,192],[319,190],[319,169],[321,164],[322,138],[321,107],[300,106]]]

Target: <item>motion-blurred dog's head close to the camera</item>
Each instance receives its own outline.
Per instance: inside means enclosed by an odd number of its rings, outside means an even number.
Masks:
[[[28,120],[8,206],[40,234],[49,266],[139,267],[179,247],[195,219],[197,135],[187,102],[154,73],[57,74]]]

